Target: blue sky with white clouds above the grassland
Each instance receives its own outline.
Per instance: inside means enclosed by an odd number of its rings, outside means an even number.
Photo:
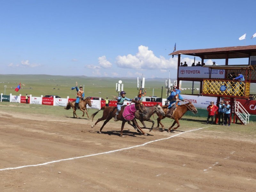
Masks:
[[[168,55],[175,43],[176,50],[256,44],[254,0],[0,4],[0,74],[168,78],[170,71],[176,78],[178,58]],[[181,58],[188,65],[192,60]],[[241,62],[233,64],[247,64]]]

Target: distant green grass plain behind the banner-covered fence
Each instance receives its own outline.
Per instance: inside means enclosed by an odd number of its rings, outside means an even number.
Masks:
[[[165,79],[153,78],[145,80],[145,89],[147,96],[157,96],[166,98]],[[76,91],[71,90],[71,87],[76,85],[84,86],[85,96],[102,97],[117,96],[116,83],[122,80],[124,91],[128,98],[133,98],[138,95],[137,78],[110,78],[110,77],[86,77],[86,76],[60,76],[60,75],[0,75],[0,93],[4,94],[4,85],[6,85],[5,95],[28,95],[45,96],[58,95],[62,98],[69,96],[74,98]],[[174,80],[172,80],[174,81]],[[19,92],[14,89],[21,82]],[[194,88],[199,88],[199,82],[194,82]],[[162,90],[163,87],[163,90]],[[182,82],[183,88],[192,88],[192,82]],[[251,94],[256,93],[256,86],[251,84]],[[199,90],[194,90],[194,94],[199,94]],[[182,90],[182,94],[192,94],[191,89]]]

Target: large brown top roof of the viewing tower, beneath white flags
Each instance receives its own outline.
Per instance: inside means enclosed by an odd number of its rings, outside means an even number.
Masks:
[[[169,55],[180,54],[196,56],[202,59],[249,58],[250,56],[256,56],[256,45],[180,50],[170,53]]]

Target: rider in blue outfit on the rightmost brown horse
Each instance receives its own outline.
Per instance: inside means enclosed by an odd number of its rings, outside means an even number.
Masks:
[[[184,101],[182,96],[180,96],[180,90],[177,89],[176,86],[173,86],[173,90],[170,94],[170,96],[167,98],[168,101],[170,101],[170,104],[168,106],[168,111],[166,116],[172,118],[172,112],[176,108],[176,103],[178,102],[178,105],[180,105],[179,100]]]

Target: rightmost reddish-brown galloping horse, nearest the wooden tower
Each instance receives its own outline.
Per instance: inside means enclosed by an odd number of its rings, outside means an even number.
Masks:
[[[164,129],[164,125],[161,123],[161,119],[164,119],[166,116],[166,112],[167,112],[167,109],[168,109],[168,105],[164,105],[162,106],[164,112],[165,112],[165,115],[162,116],[161,114],[159,113],[156,113],[158,118],[157,118],[157,128],[159,127],[159,124],[161,124],[162,126],[162,129]],[[197,113],[197,110],[196,110],[196,107],[191,103],[186,103],[186,104],[182,104],[182,105],[178,105],[177,108],[175,109],[173,115],[172,115],[172,119],[174,119],[174,122],[172,124],[171,127],[169,127],[168,131],[173,131],[175,129],[177,129],[178,127],[180,127],[180,123],[179,123],[179,120],[181,119],[181,117],[187,112],[187,111],[192,111],[194,114]],[[170,117],[168,117],[170,118]],[[175,128],[172,128],[175,124],[178,124],[177,127]]]

